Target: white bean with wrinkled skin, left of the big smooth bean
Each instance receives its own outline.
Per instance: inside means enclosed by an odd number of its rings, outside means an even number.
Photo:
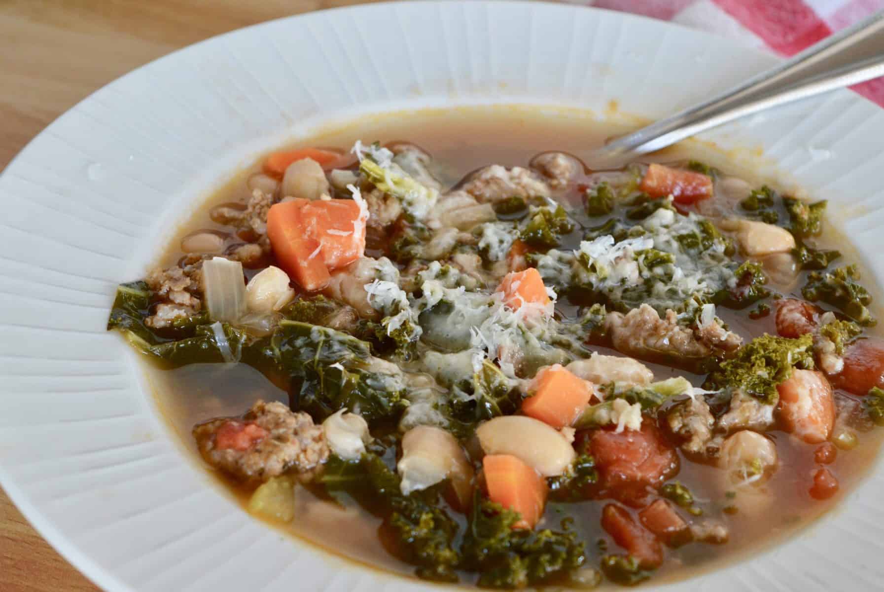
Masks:
[[[454,436],[441,427],[413,427],[402,436],[402,457],[396,464],[405,495],[450,479],[461,502],[469,500],[473,467]]]

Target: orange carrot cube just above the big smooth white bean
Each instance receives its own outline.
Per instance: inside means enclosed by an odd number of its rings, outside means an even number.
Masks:
[[[522,412],[556,429],[570,426],[592,398],[591,384],[560,364],[541,368],[534,388],[534,395],[522,401]]]

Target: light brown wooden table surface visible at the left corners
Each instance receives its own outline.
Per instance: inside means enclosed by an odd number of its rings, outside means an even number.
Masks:
[[[355,0],[0,0],[0,169],[53,119],[133,68],[264,20]],[[96,592],[0,489],[0,591]]]

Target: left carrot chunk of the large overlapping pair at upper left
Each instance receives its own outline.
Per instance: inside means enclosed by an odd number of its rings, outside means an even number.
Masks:
[[[267,236],[279,266],[309,292],[324,288],[331,280],[322,258],[322,245],[304,234],[301,210],[307,200],[274,204],[267,213]]]

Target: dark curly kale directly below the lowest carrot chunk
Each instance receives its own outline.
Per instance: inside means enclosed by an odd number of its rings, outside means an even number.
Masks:
[[[462,566],[484,588],[525,588],[575,570],[586,561],[573,532],[514,529],[519,514],[476,496],[463,537]]]

